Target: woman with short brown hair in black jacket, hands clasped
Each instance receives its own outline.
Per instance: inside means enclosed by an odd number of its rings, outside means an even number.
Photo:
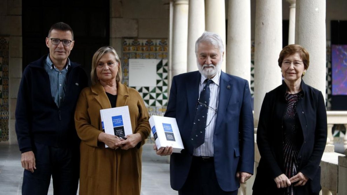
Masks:
[[[327,142],[324,97],[302,80],[309,66],[300,45],[282,49],[282,85],[266,93],[260,111],[257,145],[261,155],[253,195],[319,194],[320,167]]]

